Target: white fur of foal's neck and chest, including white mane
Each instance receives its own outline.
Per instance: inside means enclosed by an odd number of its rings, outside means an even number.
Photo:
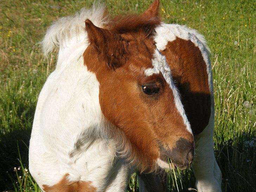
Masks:
[[[124,191],[130,175],[117,156],[116,141],[107,134],[99,104],[99,83],[87,70],[84,20],[101,26],[104,9],[82,9],[53,24],[43,40],[45,53],[59,46],[56,70],[40,92],[29,148],[29,169],[38,185],[90,181],[97,191]],[[111,125],[109,125],[111,126]]]

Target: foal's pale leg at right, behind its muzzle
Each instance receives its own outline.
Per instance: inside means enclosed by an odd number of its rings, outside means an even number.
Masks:
[[[203,132],[194,137],[196,150],[192,168],[197,190],[203,192],[221,192],[222,174],[214,156],[213,127],[214,119],[211,116]]]

